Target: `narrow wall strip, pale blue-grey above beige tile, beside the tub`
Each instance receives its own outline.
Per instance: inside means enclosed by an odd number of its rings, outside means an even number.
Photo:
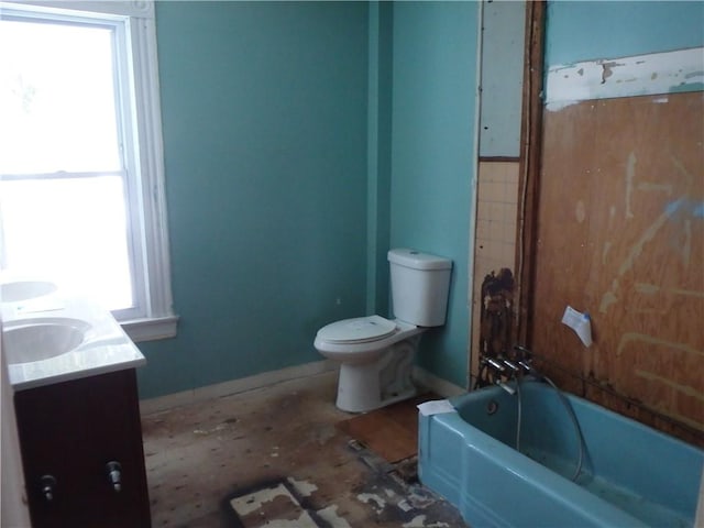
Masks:
[[[474,229],[470,382],[474,386],[484,280],[515,271],[526,2],[490,1],[482,10],[480,163]],[[484,326],[486,328],[486,326]]]

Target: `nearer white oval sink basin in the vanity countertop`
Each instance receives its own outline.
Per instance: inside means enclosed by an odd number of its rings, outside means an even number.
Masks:
[[[89,328],[79,319],[61,317],[14,321],[2,331],[2,349],[8,364],[47,360],[80,345]]]

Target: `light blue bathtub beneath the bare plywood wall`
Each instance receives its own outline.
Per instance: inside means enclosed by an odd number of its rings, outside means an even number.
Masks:
[[[418,475],[472,528],[692,527],[704,451],[549,385],[486,387],[419,415]],[[573,481],[574,479],[574,481]]]

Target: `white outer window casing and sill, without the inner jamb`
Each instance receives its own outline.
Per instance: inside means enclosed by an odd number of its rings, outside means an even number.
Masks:
[[[130,31],[135,119],[141,170],[145,258],[145,316],[120,321],[133,341],[150,341],[176,336],[178,316],[173,311],[166,194],[164,185],[164,145],[156,54],[154,1],[41,1],[1,2],[3,8],[34,10],[48,14],[88,16],[96,13],[128,18]]]

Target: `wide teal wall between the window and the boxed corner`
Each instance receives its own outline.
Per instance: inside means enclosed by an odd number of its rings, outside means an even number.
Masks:
[[[322,358],[363,315],[367,6],[158,2],[176,339],[142,397]]]

